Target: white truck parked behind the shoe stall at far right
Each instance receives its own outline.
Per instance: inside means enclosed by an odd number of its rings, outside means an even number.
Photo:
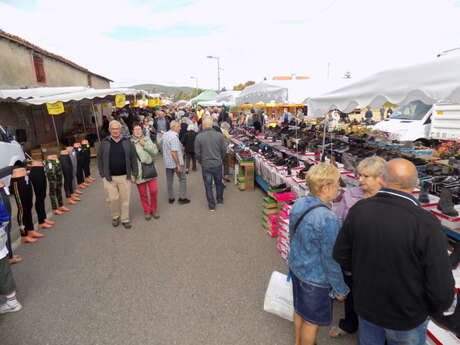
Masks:
[[[412,101],[398,108],[388,119],[377,123],[374,130],[402,142],[460,138],[460,104],[428,105]]]

